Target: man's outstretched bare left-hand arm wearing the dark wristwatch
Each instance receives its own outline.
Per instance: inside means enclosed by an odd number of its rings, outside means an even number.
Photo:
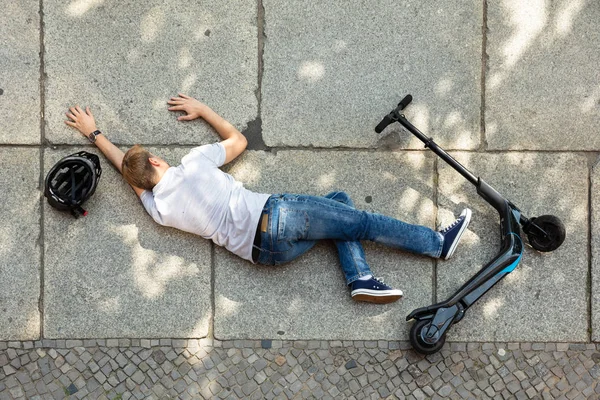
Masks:
[[[67,117],[69,120],[65,121],[65,124],[77,129],[86,138],[90,133],[98,129],[96,128],[96,121],[89,107],[86,107],[85,111],[83,111],[79,106],[71,107],[69,108],[69,112],[67,112]],[[125,153],[123,153],[123,151],[121,151],[121,149],[119,149],[117,146],[112,144],[104,135],[96,136],[96,146],[115,166],[115,168],[119,170],[119,173],[122,173],[121,166],[123,164],[123,156]],[[135,193],[138,195],[138,197],[144,192],[144,189],[140,189],[135,186],[132,186],[132,188],[135,190]]]

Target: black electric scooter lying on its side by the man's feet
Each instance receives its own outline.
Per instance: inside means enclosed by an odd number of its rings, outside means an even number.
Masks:
[[[408,95],[398,106],[386,115],[375,128],[381,133],[386,126],[399,122],[415,135],[442,160],[475,185],[477,194],[494,207],[500,214],[500,252],[479,272],[469,279],[447,300],[428,307],[413,310],[406,320],[416,320],[410,330],[410,343],[421,354],[433,354],[440,350],[446,340],[446,333],[453,324],[465,316],[465,312],[502,278],[511,273],[521,261],[523,240],[520,227],[527,234],[529,244],[541,252],[556,250],[565,240],[565,226],[554,215],[527,218],[510,200],[502,197],[483,179],[476,177],[440,148],[432,138],[428,138],[411,124],[400,112],[412,101]]]

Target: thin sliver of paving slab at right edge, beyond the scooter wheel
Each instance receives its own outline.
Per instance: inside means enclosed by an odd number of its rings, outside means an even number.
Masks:
[[[592,171],[592,340],[600,342],[600,162]]]

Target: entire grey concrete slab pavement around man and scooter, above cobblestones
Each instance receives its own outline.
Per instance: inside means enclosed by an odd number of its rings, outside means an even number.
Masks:
[[[450,338],[599,340],[598,264],[589,258],[598,254],[599,200],[589,179],[600,154],[597,2],[0,5],[0,217],[8,236],[0,296],[10,304],[0,308],[0,340],[406,338],[408,311],[447,295],[497,249],[495,215],[460,176],[397,127],[373,132],[407,92],[416,126],[465,150],[461,157],[528,215],[567,222],[561,249],[527,249],[523,265]],[[175,161],[187,145],[216,140],[203,122],[179,123],[166,110],[177,91],[240,129],[250,125],[251,150],[266,151],[250,151],[231,170],[252,189],[344,189],[361,208],[429,226],[450,221],[463,202],[476,211],[472,230],[448,263],[368,246],[376,274],[407,293],[376,307],[351,302],[329,245],[272,271],[157,226],[106,161],[87,219],[40,209],[36,152],[49,168],[89,147],[63,123],[69,105],[90,105],[118,144],[164,145]],[[12,203],[21,195],[31,196],[28,214]],[[314,289],[314,276],[331,286]],[[355,315],[359,328],[349,329]]]

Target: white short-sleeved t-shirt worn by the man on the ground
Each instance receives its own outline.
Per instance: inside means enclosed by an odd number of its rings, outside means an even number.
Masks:
[[[159,224],[211,239],[252,261],[256,227],[270,195],[245,189],[219,169],[224,162],[221,143],[196,147],[181,165],[165,172],[152,192],[142,193],[142,203]]]

